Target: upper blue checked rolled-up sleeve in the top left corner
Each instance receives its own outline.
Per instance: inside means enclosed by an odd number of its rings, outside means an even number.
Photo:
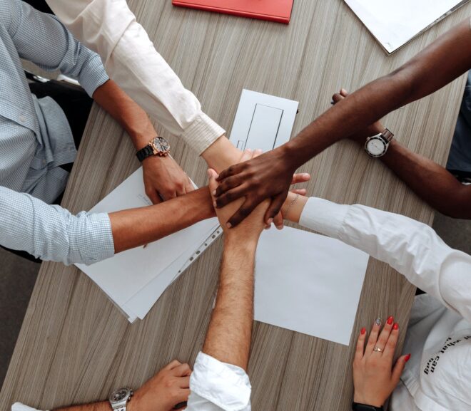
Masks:
[[[46,71],[61,71],[76,78],[88,95],[108,80],[98,54],[79,43],[64,24],[29,4],[9,0],[11,34],[21,58]]]

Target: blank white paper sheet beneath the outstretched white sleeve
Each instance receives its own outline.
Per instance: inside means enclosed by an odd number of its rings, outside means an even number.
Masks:
[[[348,345],[368,258],[308,231],[263,231],[256,256],[255,320]]]

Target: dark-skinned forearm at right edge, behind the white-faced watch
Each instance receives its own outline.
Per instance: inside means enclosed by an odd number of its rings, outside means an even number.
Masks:
[[[471,187],[461,184],[444,167],[407,150],[395,140],[381,160],[415,194],[442,214],[471,218]]]

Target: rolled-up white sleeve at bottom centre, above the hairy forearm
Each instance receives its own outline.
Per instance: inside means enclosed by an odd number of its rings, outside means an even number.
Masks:
[[[251,390],[242,368],[199,353],[190,377],[186,411],[250,411]]]

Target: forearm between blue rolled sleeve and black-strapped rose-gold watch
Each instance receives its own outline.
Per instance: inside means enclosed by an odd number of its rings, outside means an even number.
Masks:
[[[136,150],[156,137],[156,130],[146,112],[113,81],[108,80],[93,93],[93,100],[128,132]]]

